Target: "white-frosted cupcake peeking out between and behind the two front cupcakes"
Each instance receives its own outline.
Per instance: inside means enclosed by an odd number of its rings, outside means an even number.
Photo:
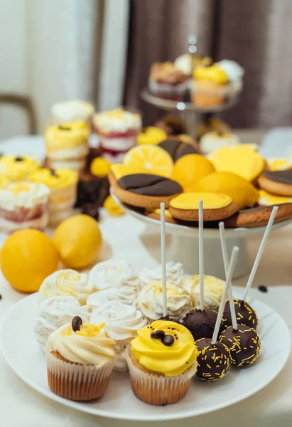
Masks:
[[[114,369],[125,371],[127,367],[126,349],[131,340],[136,337],[137,330],[146,325],[142,313],[131,305],[114,301],[94,310],[90,322],[94,325],[105,323],[107,336],[116,342],[114,349],[117,352],[117,361]]]

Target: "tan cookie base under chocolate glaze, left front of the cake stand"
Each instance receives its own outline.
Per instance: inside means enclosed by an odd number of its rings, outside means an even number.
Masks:
[[[117,196],[121,202],[129,204],[130,206],[148,209],[159,209],[161,203],[164,203],[166,205],[166,209],[168,209],[171,199],[180,194],[173,194],[171,196],[144,196],[124,190],[118,184],[112,186],[112,189],[114,191],[114,195]]]

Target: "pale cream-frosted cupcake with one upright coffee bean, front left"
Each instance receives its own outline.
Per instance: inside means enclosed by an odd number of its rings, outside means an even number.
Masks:
[[[115,341],[104,323],[92,325],[75,316],[50,334],[46,346],[48,385],[65,399],[87,401],[104,394],[114,368]]]

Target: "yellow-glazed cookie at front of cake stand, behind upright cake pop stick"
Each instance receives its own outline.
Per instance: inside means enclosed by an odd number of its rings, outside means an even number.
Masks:
[[[198,221],[200,199],[203,201],[204,221],[219,221],[238,211],[231,197],[220,193],[180,194],[170,201],[169,211],[174,218]]]

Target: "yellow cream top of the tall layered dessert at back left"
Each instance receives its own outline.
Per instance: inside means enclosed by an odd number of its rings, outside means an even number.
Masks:
[[[47,152],[87,144],[89,136],[90,129],[85,122],[69,122],[64,125],[50,126],[45,131]]]

